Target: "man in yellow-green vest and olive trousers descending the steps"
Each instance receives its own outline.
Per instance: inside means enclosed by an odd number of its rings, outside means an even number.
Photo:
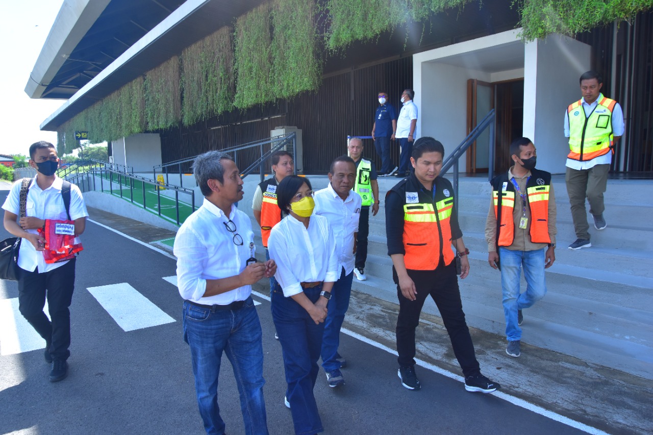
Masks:
[[[569,245],[570,250],[592,246],[585,198],[590,202],[594,228],[602,230],[607,227],[603,217],[603,192],[607,187],[614,148],[624,135],[624,113],[619,103],[601,93],[601,74],[584,72],[580,82],[582,98],[567,106],[564,125],[565,137],[569,138],[565,182],[577,237]]]

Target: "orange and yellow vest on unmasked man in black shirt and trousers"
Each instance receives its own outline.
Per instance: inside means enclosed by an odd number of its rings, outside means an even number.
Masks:
[[[423,190],[413,173],[390,189],[402,197],[404,263],[410,270],[435,270],[440,257],[446,266],[455,257],[451,249],[453,187],[449,180],[438,177],[434,181],[434,188],[435,198]]]

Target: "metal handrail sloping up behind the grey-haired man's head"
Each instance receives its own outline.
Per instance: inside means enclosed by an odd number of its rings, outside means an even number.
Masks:
[[[263,165],[268,159],[270,159],[270,156],[272,155],[273,152],[280,150],[283,148],[283,146],[287,146],[288,142],[292,141],[293,144],[293,157],[296,155],[296,147],[297,147],[297,141],[296,141],[296,133],[292,132],[287,135],[281,135],[278,137],[271,137],[271,138],[266,138],[264,140],[255,140],[253,142],[247,142],[246,144],[241,144],[241,145],[236,145],[232,146],[229,148],[224,148],[223,150],[219,150],[220,152],[223,153],[234,153],[234,161],[236,162],[236,165],[238,164],[237,161],[237,155],[236,152],[242,151],[242,150],[248,150],[251,148],[258,147],[259,151],[261,153],[261,157],[255,160],[254,163],[249,165],[246,170],[242,171],[242,178],[245,178],[247,175],[251,174],[256,167],[259,167],[259,172],[261,176],[261,181],[264,180],[265,174],[264,174],[264,169]],[[276,143],[279,142],[279,143]],[[276,144],[275,144],[276,143]],[[268,152],[263,152],[263,146],[267,144],[275,144],[272,145],[270,148],[270,151]],[[155,165],[153,169],[153,179],[156,180],[157,178],[157,172],[163,174],[165,172],[165,184],[170,185],[170,180],[169,180],[169,174],[168,174],[168,168],[173,167],[173,166],[178,166],[178,172],[180,174],[180,186],[183,186],[183,177],[182,177],[182,164],[183,163],[189,163],[192,161],[195,161],[197,158],[197,155],[194,157],[188,157],[186,159],[180,159],[168,163],[162,163],[161,165]],[[159,170],[159,171],[157,171]],[[160,183],[160,182],[159,182]]]

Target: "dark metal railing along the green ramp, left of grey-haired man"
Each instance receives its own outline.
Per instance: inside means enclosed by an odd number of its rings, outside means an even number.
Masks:
[[[159,217],[165,218],[166,216],[163,216],[161,214],[161,190],[159,187],[163,187],[161,183],[157,182],[156,180],[151,180],[150,178],[145,178],[140,175],[134,175],[134,174],[127,174],[126,172],[121,172],[118,170],[113,170],[113,169],[108,169],[108,168],[93,168],[90,169],[88,172],[84,174],[76,174],[74,177],[72,177],[70,180],[74,180],[74,184],[77,184],[82,191],[95,191],[97,190],[97,184],[95,182],[96,176],[100,178],[100,191],[104,191],[104,174],[108,173],[108,182],[109,182],[109,192],[114,193],[114,187],[113,184],[114,182],[114,174],[118,175],[118,186],[119,186],[119,191],[120,191],[120,197],[126,199],[123,197],[123,180],[129,180],[129,199],[132,202],[132,204],[140,205],[138,202],[134,202],[134,180],[137,180],[139,182],[142,182],[143,184],[150,184],[154,185],[157,187],[157,212],[159,214]],[[90,178],[93,176],[93,188],[91,189],[91,181]],[[81,181],[81,183],[80,183]],[[86,182],[86,185],[84,185],[84,182]],[[86,189],[85,189],[86,187]],[[143,186],[144,187],[144,186]],[[180,187],[180,186],[174,186],[174,185],[165,185],[165,188],[168,190],[174,191],[174,200],[175,200],[175,208],[176,208],[176,223],[177,225],[181,225],[180,221],[180,216],[179,216],[179,194],[180,193],[185,193],[187,195],[190,195],[191,197],[191,212],[195,212],[195,191],[193,189],[189,189],[188,187]],[[142,194],[143,194],[143,208],[146,209],[147,206],[147,201],[145,197],[145,189],[142,189]]]

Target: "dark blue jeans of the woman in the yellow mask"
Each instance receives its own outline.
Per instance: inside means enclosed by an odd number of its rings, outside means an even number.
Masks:
[[[304,289],[304,295],[315,303],[320,297],[322,286]],[[272,320],[279,333],[283,351],[288,389],[286,398],[290,403],[296,435],[323,432],[322,421],[313,396],[317,379],[317,360],[322,348],[325,324],[315,325],[304,308],[291,297],[283,296],[279,284],[272,293]]]

